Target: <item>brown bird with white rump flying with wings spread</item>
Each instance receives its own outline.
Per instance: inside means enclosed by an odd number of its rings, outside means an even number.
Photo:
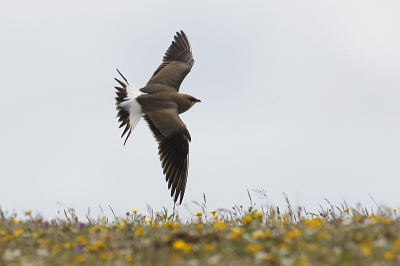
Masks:
[[[121,138],[126,136],[124,145],[139,123],[147,122],[158,142],[163,172],[171,189],[174,202],[185,194],[189,167],[189,141],[191,137],[179,114],[200,102],[193,96],[179,93],[179,88],[194,65],[192,48],[186,34],[181,31],[165,52],[161,65],[145,87],[138,90],[118,71],[125,83],[115,79],[121,87],[115,97],[120,128],[125,126]]]

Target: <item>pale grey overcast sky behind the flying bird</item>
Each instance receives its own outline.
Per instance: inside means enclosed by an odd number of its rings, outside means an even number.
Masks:
[[[103,2],[2,3],[4,210],[172,209],[144,121],[123,146],[113,78],[143,87],[178,30],[196,62],[181,92],[202,101],[181,115],[192,212],[255,188],[281,207],[400,206],[400,2]]]

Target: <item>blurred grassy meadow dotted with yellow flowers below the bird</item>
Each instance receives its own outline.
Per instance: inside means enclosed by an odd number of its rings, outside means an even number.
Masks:
[[[256,190],[267,199],[265,191]],[[250,197],[250,194],[249,194]],[[368,211],[346,203],[305,208],[234,206],[208,211],[204,202],[182,222],[167,209],[138,210],[114,220],[74,210],[46,221],[0,208],[0,265],[399,265],[397,210]]]

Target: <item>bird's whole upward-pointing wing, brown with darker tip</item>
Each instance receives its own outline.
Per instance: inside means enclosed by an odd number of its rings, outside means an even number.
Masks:
[[[194,65],[194,59],[186,34],[183,31],[177,32],[174,39],[175,41],[172,41],[165,52],[162,63],[140,91],[145,93],[179,91],[182,81]]]

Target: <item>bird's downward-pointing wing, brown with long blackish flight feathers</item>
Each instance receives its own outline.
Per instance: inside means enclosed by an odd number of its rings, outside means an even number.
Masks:
[[[179,198],[182,203],[189,167],[189,131],[177,110],[164,109],[145,114],[143,118],[158,142],[158,154],[171,197],[174,202]]]

